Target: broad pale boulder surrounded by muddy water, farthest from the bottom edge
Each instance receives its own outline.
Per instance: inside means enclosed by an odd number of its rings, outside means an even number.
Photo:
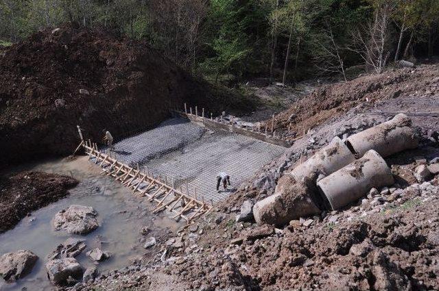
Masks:
[[[71,205],[55,215],[54,228],[56,231],[65,230],[72,234],[86,234],[97,227],[97,212],[93,207]]]

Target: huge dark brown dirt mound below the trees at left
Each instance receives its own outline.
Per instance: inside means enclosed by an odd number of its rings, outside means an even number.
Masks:
[[[75,129],[97,141],[153,127],[169,109],[219,112],[252,102],[194,79],[145,43],[75,25],[40,31],[0,55],[0,164],[71,153]]]

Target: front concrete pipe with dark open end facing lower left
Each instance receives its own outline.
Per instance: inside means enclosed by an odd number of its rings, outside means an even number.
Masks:
[[[326,197],[332,210],[337,210],[363,197],[372,188],[393,184],[388,165],[379,153],[370,150],[361,159],[318,181],[317,186],[322,198]]]

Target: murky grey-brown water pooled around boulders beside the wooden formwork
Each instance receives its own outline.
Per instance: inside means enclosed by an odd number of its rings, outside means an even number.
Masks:
[[[88,162],[86,157],[73,161],[45,162],[24,169],[71,175],[80,180],[80,184],[69,190],[71,194],[68,197],[32,212],[32,216],[23,218],[14,229],[0,235],[0,255],[28,249],[39,257],[32,273],[17,283],[8,284],[0,279],[0,290],[54,290],[47,279],[44,265],[51,250],[69,237],[86,240],[87,248],[76,257],[84,268],[93,266],[93,262],[85,255],[86,251],[97,246],[109,251],[110,259],[97,266],[99,272],[105,272],[128,266],[132,260],[152,252],[143,249],[145,238],[175,233],[180,227],[175,220],[167,218],[165,213],[152,214],[154,205],[150,202],[135,196],[112,178],[99,175],[99,167]],[[99,214],[99,227],[87,236],[54,231],[51,227],[52,218],[56,212],[72,204],[95,208]],[[151,229],[147,236],[141,235],[142,227]]]

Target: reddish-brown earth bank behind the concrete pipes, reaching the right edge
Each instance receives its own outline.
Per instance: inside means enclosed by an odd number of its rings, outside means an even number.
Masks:
[[[380,75],[366,75],[352,81],[322,86],[289,110],[278,114],[274,129],[293,139],[365,101],[367,104],[363,106],[373,107],[381,99],[429,97],[439,90],[438,81],[438,66],[425,65],[393,69]],[[271,121],[267,122],[271,126]],[[291,128],[288,134],[289,126]]]

